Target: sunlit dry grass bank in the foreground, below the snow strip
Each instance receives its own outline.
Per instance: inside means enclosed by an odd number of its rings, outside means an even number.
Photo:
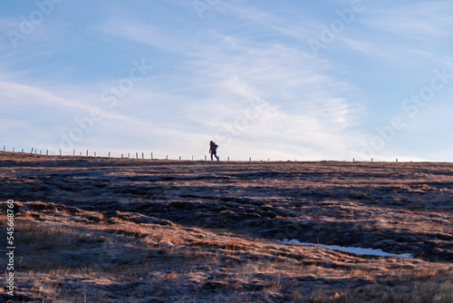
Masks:
[[[109,289],[128,283],[139,285],[140,290],[134,290],[132,296],[131,288],[118,290],[121,300],[137,301],[151,292],[163,298],[175,288],[186,289],[188,281],[198,285],[194,298],[175,302],[208,302],[208,298],[218,302],[285,298],[306,302],[310,298],[311,302],[443,303],[450,302],[453,294],[453,268],[442,264],[354,259],[330,249],[241,240],[177,225],[126,220],[86,224],[69,218],[62,221],[50,211],[41,212],[42,221],[35,217],[28,213],[16,220],[18,245],[26,248],[20,260],[24,271],[18,277],[24,288],[48,302],[110,301]],[[119,254],[116,249],[120,248],[129,248],[136,258]],[[80,250],[92,259],[72,260],[75,263],[64,259]],[[109,258],[99,258],[100,254]],[[326,280],[331,282],[325,284]],[[350,282],[343,284],[342,280]],[[350,284],[357,280],[361,286]],[[335,284],[341,288],[329,286]]]

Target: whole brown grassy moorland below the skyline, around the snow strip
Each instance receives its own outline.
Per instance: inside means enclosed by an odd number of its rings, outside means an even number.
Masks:
[[[18,302],[453,301],[450,163],[0,152],[0,180]]]

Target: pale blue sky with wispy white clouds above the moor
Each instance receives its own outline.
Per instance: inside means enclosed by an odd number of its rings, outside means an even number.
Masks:
[[[453,161],[453,3],[0,4],[0,148]]]

